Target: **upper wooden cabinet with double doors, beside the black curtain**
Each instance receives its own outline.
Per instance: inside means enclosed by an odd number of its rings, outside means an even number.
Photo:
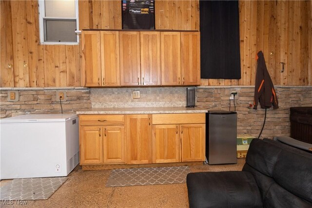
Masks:
[[[200,84],[200,33],[161,32],[161,85]]]

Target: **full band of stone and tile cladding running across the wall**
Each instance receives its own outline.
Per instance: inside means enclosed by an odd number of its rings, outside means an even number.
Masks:
[[[18,90],[20,101],[8,102],[7,91]],[[16,116],[25,113],[60,113],[56,91],[66,91],[63,113],[75,113],[92,108],[174,107],[186,106],[186,87],[147,88],[12,88],[0,89],[0,115]],[[261,137],[290,135],[290,107],[312,106],[312,86],[275,86],[279,109],[267,111]],[[133,99],[132,92],[140,91],[141,98]],[[254,86],[197,87],[196,106],[208,110],[229,110],[229,95],[235,96],[237,133],[257,137],[263,124],[264,109],[247,108],[253,104]],[[233,101],[231,110],[234,110]]]

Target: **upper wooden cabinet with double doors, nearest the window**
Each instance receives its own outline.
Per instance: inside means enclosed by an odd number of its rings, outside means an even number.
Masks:
[[[86,87],[120,86],[119,32],[83,31]]]

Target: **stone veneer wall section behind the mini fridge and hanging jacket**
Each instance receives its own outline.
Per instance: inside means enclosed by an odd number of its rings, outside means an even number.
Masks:
[[[237,112],[237,134],[247,134],[258,137],[264,120],[265,110],[249,109],[249,104],[254,103],[254,86],[248,87],[198,87],[196,89],[196,106],[209,110],[229,111],[229,96],[232,92],[235,96]],[[273,138],[273,136],[290,135],[290,107],[312,106],[312,86],[275,86],[279,108],[273,107],[267,110],[266,123],[261,137]],[[234,111],[234,103],[231,100],[231,111]]]

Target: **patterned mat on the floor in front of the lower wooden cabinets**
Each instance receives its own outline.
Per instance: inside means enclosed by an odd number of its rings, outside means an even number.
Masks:
[[[188,166],[112,170],[106,187],[186,183]]]

